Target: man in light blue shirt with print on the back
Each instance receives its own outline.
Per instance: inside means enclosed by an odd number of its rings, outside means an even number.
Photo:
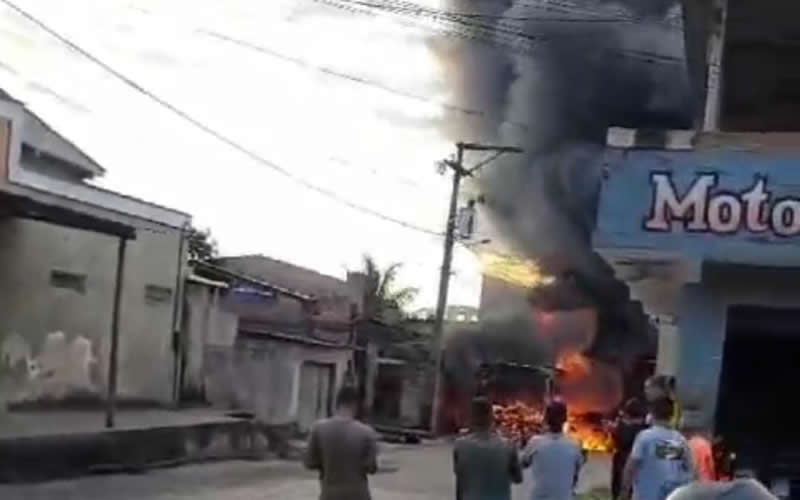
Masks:
[[[625,466],[623,491],[633,488],[633,500],[665,500],[694,479],[686,438],[673,429],[674,406],[669,398],[651,403],[653,425],[636,436]]]

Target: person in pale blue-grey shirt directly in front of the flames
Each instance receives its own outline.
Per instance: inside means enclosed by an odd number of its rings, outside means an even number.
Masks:
[[[522,456],[531,468],[532,500],[570,500],[575,495],[578,474],[584,462],[581,447],[564,435],[567,406],[554,401],[544,411],[545,434],[533,436]]]

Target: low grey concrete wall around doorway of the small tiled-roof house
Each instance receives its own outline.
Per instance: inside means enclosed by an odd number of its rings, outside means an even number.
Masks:
[[[205,357],[206,397],[214,406],[249,410],[271,425],[297,422],[300,369],[305,362],[334,368],[335,393],[344,381],[350,349],[300,342],[238,338],[233,348],[208,346]]]

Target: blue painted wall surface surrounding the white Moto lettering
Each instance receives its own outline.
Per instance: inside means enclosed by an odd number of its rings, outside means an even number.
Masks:
[[[781,237],[768,230],[753,233],[692,232],[673,223],[670,232],[646,231],[644,222],[653,205],[653,173],[666,173],[675,191],[684,195],[701,174],[716,175],[713,195],[741,193],[757,176],[765,178],[770,201],[800,198],[800,153],[772,154],[735,151],[610,151],[606,159],[598,207],[595,248],[659,249],[701,260],[763,265],[800,265],[800,236]]]

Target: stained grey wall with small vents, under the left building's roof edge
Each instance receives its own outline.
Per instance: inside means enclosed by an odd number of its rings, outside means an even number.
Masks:
[[[128,243],[121,399],[171,400],[180,239],[163,227]],[[104,393],[117,247],[105,235],[0,220],[0,411],[8,402]],[[83,277],[82,290],[54,286],[53,271]]]

